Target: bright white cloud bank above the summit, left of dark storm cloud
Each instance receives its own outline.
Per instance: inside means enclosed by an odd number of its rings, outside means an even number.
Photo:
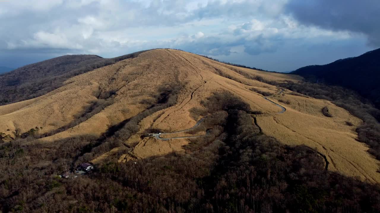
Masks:
[[[295,0],[40,0],[0,8],[0,49],[105,57],[157,47],[208,55],[273,53],[363,35],[304,25],[284,12]],[[239,50],[239,51],[236,51]]]

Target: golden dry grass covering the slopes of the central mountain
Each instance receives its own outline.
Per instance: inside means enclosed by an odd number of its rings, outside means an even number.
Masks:
[[[125,153],[119,161],[163,155],[172,151],[183,151],[188,139],[168,141],[154,138],[141,139],[149,128],[173,132],[193,127],[195,121],[190,109],[201,107],[201,100],[218,91],[229,91],[248,103],[253,111],[275,114],[281,109],[265,100],[261,94],[250,88],[275,93],[275,86],[252,80],[261,77],[272,81],[301,81],[296,75],[263,72],[233,67],[201,56],[178,50],[158,49],[141,53],[137,58],[102,67],[73,77],[65,86],[44,96],[12,105],[0,107],[0,132],[10,133],[15,128],[23,132],[41,126],[47,132],[73,121],[90,101],[96,100],[97,91],[117,90],[114,103],[90,119],[64,132],[42,138],[41,143],[55,139],[85,134],[100,135],[111,125],[135,116],[148,106],[140,101],[149,99],[152,93],[163,85],[181,85],[177,103],[173,107],[145,117],[139,123],[139,132],[125,144],[135,148]],[[257,122],[263,132],[288,145],[306,144],[316,147],[328,158],[329,169],[354,177],[359,176],[370,182],[380,182],[376,172],[378,161],[370,156],[364,144],[355,140],[355,127],[361,120],[327,100],[292,96],[285,91],[271,97],[287,111],[273,116],[258,116]],[[282,103],[279,100],[283,100]],[[326,117],[321,108],[328,106],[333,117]],[[352,122],[352,127],[345,124]],[[9,129],[10,131],[6,131]],[[183,136],[184,133],[173,134]],[[165,135],[167,137],[169,135]],[[171,135],[170,135],[171,137]],[[93,160],[99,162],[109,154]]]

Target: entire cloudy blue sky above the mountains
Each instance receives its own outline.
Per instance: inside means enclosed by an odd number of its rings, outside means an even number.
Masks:
[[[380,47],[379,0],[0,0],[0,66],[173,48],[287,72]]]

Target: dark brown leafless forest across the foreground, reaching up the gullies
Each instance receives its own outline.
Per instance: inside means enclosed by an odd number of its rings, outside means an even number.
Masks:
[[[146,111],[100,138],[84,135],[38,143],[35,134],[0,144],[3,212],[379,212],[380,188],[326,171],[314,149],[285,146],[255,125],[250,108],[218,92],[191,110],[206,116],[210,133],[185,153],[117,163],[132,147],[123,141],[138,122],[176,102],[178,87],[163,87]],[[104,102],[109,102],[109,96]],[[102,101],[103,102],[103,101]],[[87,113],[97,111],[92,105]],[[84,116],[84,115],[82,115]],[[80,117],[78,117],[80,119]],[[59,174],[120,147],[74,179]]]

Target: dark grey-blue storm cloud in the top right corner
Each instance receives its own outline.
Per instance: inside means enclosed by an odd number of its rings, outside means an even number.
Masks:
[[[290,0],[285,8],[302,24],[363,33],[380,46],[379,0]]]

